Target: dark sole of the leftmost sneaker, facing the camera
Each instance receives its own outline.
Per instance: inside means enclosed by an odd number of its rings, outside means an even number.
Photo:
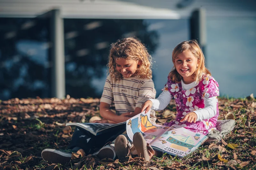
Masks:
[[[71,156],[63,156],[61,155],[62,153],[56,153],[56,152],[51,152],[51,151],[44,151],[42,152],[42,158],[46,162],[52,162],[54,164],[60,163],[61,165],[65,165],[71,160]],[[65,153],[63,153],[65,154]]]

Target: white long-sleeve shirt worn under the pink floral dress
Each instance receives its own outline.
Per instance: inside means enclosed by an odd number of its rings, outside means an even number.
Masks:
[[[186,85],[181,80],[181,85],[183,90],[189,90],[198,85],[195,81]],[[171,101],[173,98],[172,94],[169,91],[163,91],[157,99],[149,99],[152,101],[153,105],[151,109],[160,111],[163,110]],[[217,98],[211,97],[204,99],[204,108],[192,111],[195,112],[197,115],[196,121],[201,121],[205,119],[210,119],[217,113]]]

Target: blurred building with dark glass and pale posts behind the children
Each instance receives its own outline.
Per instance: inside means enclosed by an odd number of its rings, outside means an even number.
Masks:
[[[157,96],[191,38],[220,95],[256,93],[255,0],[0,0],[0,100],[100,97],[109,47],[129,36],[153,57]]]

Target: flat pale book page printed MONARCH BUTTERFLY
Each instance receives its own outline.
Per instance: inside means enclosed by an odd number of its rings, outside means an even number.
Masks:
[[[185,156],[190,150],[195,150],[195,146],[205,139],[205,135],[192,132],[180,125],[172,125],[169,129],[158,137],[151,146],[158,148],[172,155]]]

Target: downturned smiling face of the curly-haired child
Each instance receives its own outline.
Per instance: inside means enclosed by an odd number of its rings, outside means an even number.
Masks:
[[[140,64],[141,62],[136,60],[118,58],[116,59],[116,70],[123,75],[123,78],[130,78],[135,76],[135,72]]]

